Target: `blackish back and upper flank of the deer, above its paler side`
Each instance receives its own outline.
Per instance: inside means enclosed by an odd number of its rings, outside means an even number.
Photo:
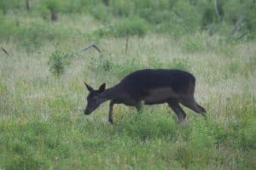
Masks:
[[[187,93],[195,88],[195,77],[187,71],[145,69],[126,76],[119,86],[128,94],[146,95],[154,89],[171,88],[175,93]],[[193,92],[194,93],[194,92]]]

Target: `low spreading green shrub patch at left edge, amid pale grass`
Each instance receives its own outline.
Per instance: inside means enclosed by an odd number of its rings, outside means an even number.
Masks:
[[[32,21],[24,24],[20,20],[1,17],[0,15],[0,40],[15,40],[18,47],[25,48],[27,52],[32,52],[40,48],[46,41],[53,41],[67,36],[67,30],[61,30],[60,27],[49,25],[49,23]]]

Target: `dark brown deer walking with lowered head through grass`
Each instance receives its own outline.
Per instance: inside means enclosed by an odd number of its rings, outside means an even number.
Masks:
[[[132,72],[113,88],[105,89],[106,83],[97,90],[85,85],[90,94],[84,114],[90,115],[99,105],[110,100],[108,122],[112,124],[114,104],[135,106],[141,111],[142,104],[167,103],[176,113],[178,122],[183,122],[186,114],[179,105],[182,104],[206,117],[205,109],[195,102],[195,77],[187,71],[146,69]]]

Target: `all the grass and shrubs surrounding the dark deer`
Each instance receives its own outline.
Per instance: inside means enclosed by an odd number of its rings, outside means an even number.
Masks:
[[[0,169],[256,169],[255,22],[255,0],[0,0]],[[84,116],[84,81],[143,68],[193,73],[207,121]]]

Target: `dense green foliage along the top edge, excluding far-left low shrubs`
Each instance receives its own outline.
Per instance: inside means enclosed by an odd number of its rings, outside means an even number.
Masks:
[[[42,3],[32,4],[32,8],[35,8],[34,13],[41,14],[44,19],[55,11],[62,14],[90,14],[107,27],[115,26],[116,33],[120,35],[127,31],[142,35],[150,30],[167,32],[173,36],[209,31],[209,34],[218,33],[228,38],[234,37],[234,40],[251,39],[255,36],[256,4],[253,0],[218,1],[220,18],[217,17],[214,1],[208,0],[112,0],[108,5],[100,0],[44,0]],[[26,10],[21,8],[21,5],[20,1],[16,0],[3,0],[0,3],[3,13]],[[241,28],[235,35],[230,35],[241,19]],[[119,22],[120,24],[117,24]],[[113,33],[111,35],[116,36]]]

